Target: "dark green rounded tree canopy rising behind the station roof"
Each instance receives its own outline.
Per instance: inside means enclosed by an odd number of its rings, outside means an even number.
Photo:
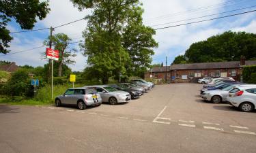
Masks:
[[[240,61],[256,58],[256,35],[254,33],[227,31],[214,35],[205,41],[194,43],[184,56],[177,56],[175,64]]]

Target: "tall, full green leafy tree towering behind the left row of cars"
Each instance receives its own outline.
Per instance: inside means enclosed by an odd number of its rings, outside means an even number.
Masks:
[[[84,55],[87,56],[88,68],[85,70],[88,73],[97,73],[102,83],[106,84],[110,77],[118,78],[120,73],[122,76],[129,75],[129,71],[134,70],[134,65],[150,67],[149,58],[154,52],[149,49],[150,45],[140,46],[142,43],[137,41],[139,39],[149,41],[152,37],[146,35],[152,36],[154,31],[143,26],[142,10],[138,0],[72,0],[72,2],[79,10],[86,8],[93,10],[92,16],[87,16],[87,29],[83,32],[85,44],[81,45]],[[132,19],[132,16],[139,17]],[[139,22],[136,23],[135,20]],[[133,31],[132,28],[136,29]],[[129,31],[131,35],[128,34]],[[141,37],[134,39],[138,36]],[[126,39],[130,40],[126,41]],[[131,46],[133,48],[130,48]]]

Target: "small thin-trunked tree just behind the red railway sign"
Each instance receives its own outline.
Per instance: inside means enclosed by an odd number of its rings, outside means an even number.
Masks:
[[[44,44],[49,44],[50,37],[46,41],[44,41]],[[59,67],[58,67],[58,76],[62,76],[62,67],[63,65],[69,65],[75,63],[75,61],[72,60],[72,57],[76,56],[74,52],[76,50],[74,48],[70,48],[70,43],[72,39],[68,37],[68,35],[64,33],[57,33],[51,37],[51,41],[53,42],[53,46],[55,46],[55,50],[59,50]]]

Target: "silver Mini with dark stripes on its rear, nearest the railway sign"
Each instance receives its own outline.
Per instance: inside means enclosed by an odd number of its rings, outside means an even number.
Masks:
[[[63,95],[55,98],[55,105],[77,105],[79,109],[85,109],[89,105],[100,105],[102,98],[94,88],[69,88]]]

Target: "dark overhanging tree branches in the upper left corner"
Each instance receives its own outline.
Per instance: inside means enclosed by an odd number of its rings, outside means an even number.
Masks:
[[[8,43],[12,40],[10,31],[6,29],[8,22],[14,18],[21,29],[32,29],[36,18],[40,20],[46,17],[50,11],[48,1],[39,0],[5,0],[0,3],[0,53],[10,52],[6,48],[10,47]]]

